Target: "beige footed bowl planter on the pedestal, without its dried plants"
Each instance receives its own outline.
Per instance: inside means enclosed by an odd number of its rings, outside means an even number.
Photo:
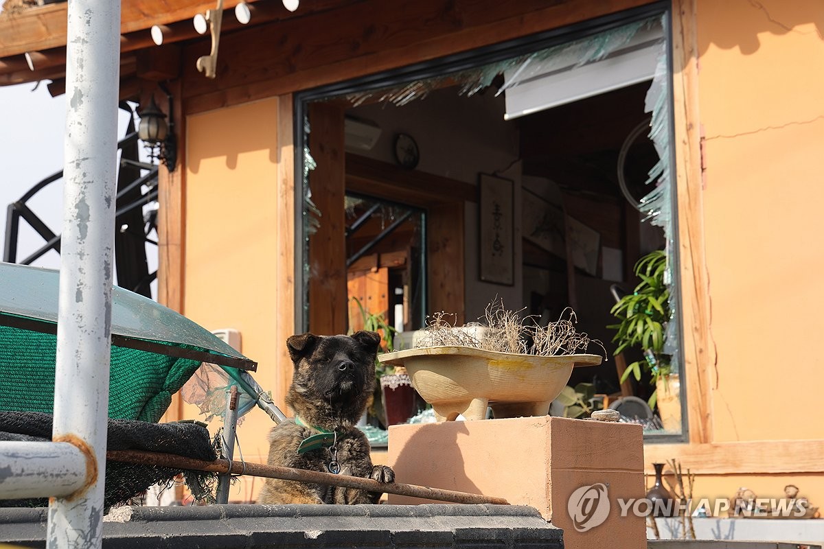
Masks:
[[[459,414],[481,420],[488,406],[496,418],[545,416],[575,366],[601,364],[597,355],[516,355],[473,347],[421,347],[378,360],[405,366],[438,421],[454,421]]]

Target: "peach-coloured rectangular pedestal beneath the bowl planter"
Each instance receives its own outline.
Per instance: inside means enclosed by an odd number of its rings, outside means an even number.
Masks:
[[[539,416],[391,426],[387,461],[398,482],[530,505],[564,530],[565,547],[646,547],[644,517],[631,507],[622,517],[618,504],[644,497],[638,425]]]

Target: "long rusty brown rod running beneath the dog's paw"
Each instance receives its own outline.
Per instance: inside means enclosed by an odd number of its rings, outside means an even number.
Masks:
[[[382,484],[371,478],[333,475],[330,472],[306,471],[304,469],[263,465],[262,463],[241,463],[229,461],[228,459],[204,461],[202,459],[185,458],[184,456],[176,454],[142,452],[138,450],[110,450],[106,452],[106,459],[121,463],[140,463],[143,465],[155,465],[157,467],[190,469],[224,474],[228,472],[239,475],[252,475],[255,477],[279,478],[284,481],[311,482],[313,484],[341,486],[372,492],[386,492],[387,494],[408,495],[426,500],[450,501],[452,503],[509,505],[507,500],[490,495],[468,494],[466,492],[441,490],[439,488],[415,486],[414,484],[402,484],[400,482]]]

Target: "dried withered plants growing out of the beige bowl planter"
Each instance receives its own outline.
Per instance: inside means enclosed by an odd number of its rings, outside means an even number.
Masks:
[[[435,313],[428,318],[424,337],[414,347],[474,347],[520,355],[561,356],[586,352],[594,343],[606,357],[602,342],[575,329],[578,317],[573,309],[564,309],[560,318],[545,328],[536,323],[534,316],[521,318],[522,311],[508,310],[503,300],[496,299],[486,306],[482,323],[463,326],[449,322],[457,318],[456,314]]]

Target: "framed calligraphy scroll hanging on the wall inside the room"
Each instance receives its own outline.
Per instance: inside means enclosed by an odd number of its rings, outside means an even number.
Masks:
[[[510,179],[480,174],[478,188],[480,280],[513,286],[515,186]]]

